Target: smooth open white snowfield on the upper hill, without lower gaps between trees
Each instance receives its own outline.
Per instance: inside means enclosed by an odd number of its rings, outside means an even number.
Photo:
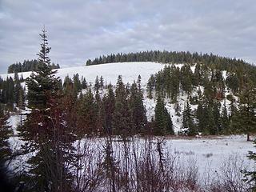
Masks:
[[[69,75],[70,78],[74,74],[79,74],[80,77],[86,78],[87,82],[94,83],[96,76],[102,76],[107,83],[115,84],[117,82],[118,75],[122,75],[123,82],[133,82],[138,78],[138,74],[142,76],[142,86],[146,85],[146,82],[150,78],[150,74],[155,74],[158,70],[164,67],[161,63],[156,62],[115,62],[96,66],[78,66],[58,69],[57,76],[62,78]],[[23,78],[29,77],[31,72],[19,73]],[[14,77],[14,74],[0,74],[2,78]]]

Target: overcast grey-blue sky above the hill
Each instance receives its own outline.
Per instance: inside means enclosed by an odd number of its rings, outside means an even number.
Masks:
[[[37,58],[82,66],[102,54],[189,50],[256,63],[255,0],[0,0],[0,73]]]

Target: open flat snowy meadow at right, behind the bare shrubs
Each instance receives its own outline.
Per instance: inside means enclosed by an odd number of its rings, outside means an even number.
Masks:
[[[167,139],[166,148],[171,154],[178,154],[182,161],[197,162],[200,174],[205,171],[218,172],[229,158],[244,161],[244,166],[253,166],[247,158],[248,150],[254,151],[252,142],[246,135],[230,135],[214,138]]]

